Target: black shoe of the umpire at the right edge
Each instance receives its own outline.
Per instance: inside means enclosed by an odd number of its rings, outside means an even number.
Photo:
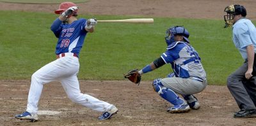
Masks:
[[[240,110],[234,114],[234,118],[252,118],[256,117],[256,109]]]

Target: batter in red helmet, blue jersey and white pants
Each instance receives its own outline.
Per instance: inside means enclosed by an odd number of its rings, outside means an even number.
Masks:
[[[61,3],[55,11],[60,14],[51,25],[51,31],[58,38],[56,45],[57,59],[38,69],[31,77],[28,95],[28,105],[24,113],[15,118],[35,122],[38,120],[38,101],[45,83],[60,81],[68,98],[72,102],[81,104],[103,114],[99,120],[106,120],[115,115],[118,109],[108,102],[100,101],[87,94],[81,94],[77,73],[79,71],[79,52],[88,32],[94,31],[97,20],[81,18],[77,20],[77,6],[74,3]]]

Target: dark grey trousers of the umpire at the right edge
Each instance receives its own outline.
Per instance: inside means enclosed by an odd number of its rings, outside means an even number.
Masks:
[[[255,57],[256,58],[256,57]],[[254,62],[254,66],[255,66]],[[227,78],[227,87],[241,110],[256,109],[256,76],[246,80],[248,60]],[[254,72],[254,67],[253,67]]]

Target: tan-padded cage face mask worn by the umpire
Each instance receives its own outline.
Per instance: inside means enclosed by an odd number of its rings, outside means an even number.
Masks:
[[[227,6],[224,11],[227,12],[227,15],[224,15],[224,20],[225,20],[224,28],[227,28],[234,24],[234,17],[236,15],[235,7],[234,5]]]

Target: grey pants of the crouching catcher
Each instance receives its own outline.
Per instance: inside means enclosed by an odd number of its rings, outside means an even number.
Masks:
[[[173,92],[181,95],[192,95],[202,92],[207,85],[207,80],[203,82],[191,78],[163,78],[161,83],[164,87],[170,88]]]

